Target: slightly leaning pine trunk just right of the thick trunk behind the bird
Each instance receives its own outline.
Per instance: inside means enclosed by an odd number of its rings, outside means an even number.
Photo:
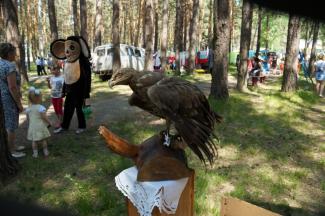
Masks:
[[[247,61],[248,51],[251,42],[253,22],[253,5],[250,0],[243,0],[242,6],[242,22],[240,33],[240,66],[237,78],[237,90],[243,91],[247,89]]]

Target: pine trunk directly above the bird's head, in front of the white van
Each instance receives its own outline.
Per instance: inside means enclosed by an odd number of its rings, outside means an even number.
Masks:
[[[113,73],[121,68],[120,59],[120,5],[119,0],[113,0],[113,18],[112,18],[112,32],[113,32]]]

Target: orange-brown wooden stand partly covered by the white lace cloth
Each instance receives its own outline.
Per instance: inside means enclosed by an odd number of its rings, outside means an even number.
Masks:
[[[194,178],[195,171],[191,170],[188,182],[179,199],[176,214],[174,216],[193,216],[194,215]],[[132,202],[127,199],[126,206],[128,209],[128,216],[139,216],[138,210]],[[152,211],[152,216],[168,216],[170,214],[160,213],[159,209],[155,207]]]

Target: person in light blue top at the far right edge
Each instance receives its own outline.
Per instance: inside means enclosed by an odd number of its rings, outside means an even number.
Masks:
[[[325,82],[325,58],[324,53],[318,55],[318,60],[315,62],[316,71],[316,92],[320,97],[323,96]]]

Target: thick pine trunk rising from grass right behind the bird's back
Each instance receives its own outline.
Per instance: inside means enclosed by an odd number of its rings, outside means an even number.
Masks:
[[[217,1],[216,45],[210,96],[214,99],[228,99],[228,55],[230,34],[230,0]]]

